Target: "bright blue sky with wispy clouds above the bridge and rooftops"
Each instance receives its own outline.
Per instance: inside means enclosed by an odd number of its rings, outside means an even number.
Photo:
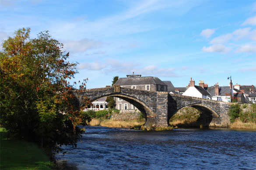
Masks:
[[[255,0],[0,0],[0,41],[48,30],[87,88],[114,76],[256,85]]]

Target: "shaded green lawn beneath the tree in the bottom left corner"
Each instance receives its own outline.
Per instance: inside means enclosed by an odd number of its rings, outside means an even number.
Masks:
[[[51,170],[55,165],[34,143],[7,139],[0,128],[0,170]]]

